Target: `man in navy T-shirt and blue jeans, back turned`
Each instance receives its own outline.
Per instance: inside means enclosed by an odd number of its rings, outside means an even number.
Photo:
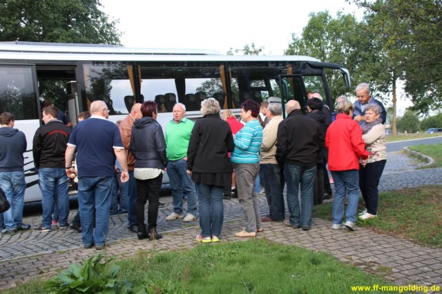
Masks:
[[[121,181],[129,179],[124,145],[118,127],[108,121],[104,101],[90,104],[89,119],[77,124],[66,149],[66,174],[77,173],[72,163],[77,149],[78,202],[81,214],[81,237],[84,248],[104,248],[109,231],[111,194],[115,176],[115,157],[122,166]],[[95,230],[94,230],[95,222]]]

